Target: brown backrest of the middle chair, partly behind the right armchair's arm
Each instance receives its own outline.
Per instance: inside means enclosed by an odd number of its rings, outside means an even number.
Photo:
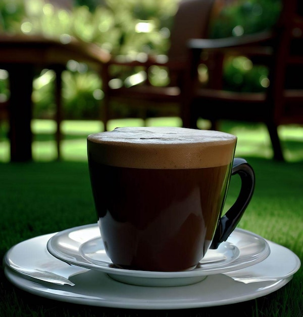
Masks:
[[[171,29],[170,61],[186,61],[187,41],[207,38],[214,0],[181,0]]]

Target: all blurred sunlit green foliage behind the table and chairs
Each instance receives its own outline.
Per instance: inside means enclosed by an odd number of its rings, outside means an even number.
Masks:
[[[68,10],[55,7],[51,0],[1,0],[0,32],[70,34],[115,55],[165,54],[178,1],[75,0]],[[217,0],[210,37],[258,32],[271,27],[279,12],[280,0]],[[71,61],[67,66],[63,73],[65,117],[97,118],[103,99],[100,78],[84,64]],[[135,71],[140,76],[141,69]],[[121,73],[119,69],[114,72]],[[124,73],[126,80],[131,75],[134,73]],[[260,91],[267,85],[266,76],[266,68],[252,67],[244,57],[226,62],[226,89]],[[33,92],[36,117],[54,114],[54,78],[50,70],[37,74]],[[167,73],[157,67],[150,78],[156,85],[167,83]],[[0,77],[0,96],[8,96],[6,81]]]

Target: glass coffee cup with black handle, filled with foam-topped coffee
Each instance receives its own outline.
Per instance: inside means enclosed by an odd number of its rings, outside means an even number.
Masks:
[[[126,127],[87,137],[92,195],[105,250],[119,268],[181,271],[227,240],[254,192],[234,159],[237,138],[209,130]],[[229,181],[241,188],[223,215]]]

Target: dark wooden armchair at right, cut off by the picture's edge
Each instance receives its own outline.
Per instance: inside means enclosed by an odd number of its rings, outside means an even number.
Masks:
[[[212,129],[218,129],[220,120],[265,123],[274,159],[284,160],[277,127],[303,124],[302,9],[300,0],[284,0],[278,22],[269,31],[240,37],[189,41],[191,66],[187,81],[187,105],[184,106],[189,127],[196,127],[198,117],[210,120]],[[215,84],[207,89],[199,87],[197,67],[201,53],[206,52],[225,56],[246,55],[252,60],[264,62],[269,70],[269,87],[264,93],[224,91],[220,84],[222,72],[212,73],[212,70],[210,72],[216,78]]]

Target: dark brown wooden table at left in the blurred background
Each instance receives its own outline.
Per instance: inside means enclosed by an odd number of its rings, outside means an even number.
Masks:
[[[55,98],[57,104],[56,140],[60,156],[61,73],[69,60],[85,62],[100,71],[110,55],[94,44],[84,43],[65,35],[46,38],[41,35],[0,34],[0,68],[9,72],[10,146],[11,162],[32,160],[32,82],[37,70],[56,72]]]

